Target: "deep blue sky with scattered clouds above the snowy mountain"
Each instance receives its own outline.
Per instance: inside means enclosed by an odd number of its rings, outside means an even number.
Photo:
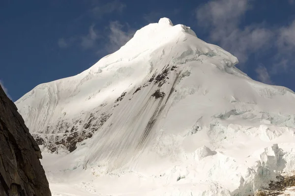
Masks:
[[[0,83],[12,100],[72,76],[167,17],[295,91],[295,0],[1,0]]]

